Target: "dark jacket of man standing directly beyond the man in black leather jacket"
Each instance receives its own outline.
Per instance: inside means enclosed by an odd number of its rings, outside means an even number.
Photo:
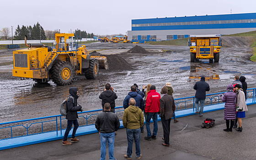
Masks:
[[[115,92],[107,90],[103,91],[99,98],[102,100],[101,105],[104,108],[105,103],[110,103],[111,108],[116,107],[115,99],[117,99],[117,95]]]

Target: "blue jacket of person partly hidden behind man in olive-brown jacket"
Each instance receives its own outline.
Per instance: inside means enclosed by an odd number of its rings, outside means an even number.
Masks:
[[[130,98],[134,98],[136,101],[135,106],[139,107],[142,111],[144,110],[144,100],[143,97],[141,95],[139,95],[139,93],[136,92],[129,92],[128,95],[124,98],[123,100],[123,108],[126,109],[127,107],[129,107],[129,101]]]

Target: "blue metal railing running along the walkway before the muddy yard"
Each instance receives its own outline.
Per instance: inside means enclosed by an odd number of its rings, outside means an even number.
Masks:
[[[205,106],[223,103],[219,98],[219,94],[222,93],[224,92],[206,95]],[[256,103],[256,88],[247,90],[247,99],[252,99],[252,102]],[[175,103],[176,111],[186,109],[193,109],[193,111],[195,110],[195,96],[176,98]],[[115,109],[117,115],[122,117],[121,112],[123,112],[123,107],[116,107]],[[94,125],[96,116],[100,112],[102,112],[102,109],[78,112],[80,127]],[[56,132],[56,136],[58,136],[59,133],[60,135],[63,135],[62,130],[65,129],[63,126],[66,126],[67,123],[67,121],[64,119],[65,117],[62,115],[54,115],[0,123],[0,132],[5,135],[5,137],[0,137],[0,140],[23,137],[33,134],[48,133],[53,131]]]

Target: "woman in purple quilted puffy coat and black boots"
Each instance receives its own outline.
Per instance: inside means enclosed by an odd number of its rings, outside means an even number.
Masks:
[[[235,98],[236,93],[233,91],[233,85],[227,86],[227,92],[221,96],[221,100],[225,102],[224,119],[226,120],[227,128],[223,129],[226,132],[232,132],[234,120],[236,118],[236,105]],[[229,127],[230,123],[230,127]]]

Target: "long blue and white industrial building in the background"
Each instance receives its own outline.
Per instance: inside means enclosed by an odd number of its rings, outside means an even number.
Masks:
[[[184,16],[132,20],[128,40],[164,41],[197,34],[235,34],[256,31],[256,13]]]

